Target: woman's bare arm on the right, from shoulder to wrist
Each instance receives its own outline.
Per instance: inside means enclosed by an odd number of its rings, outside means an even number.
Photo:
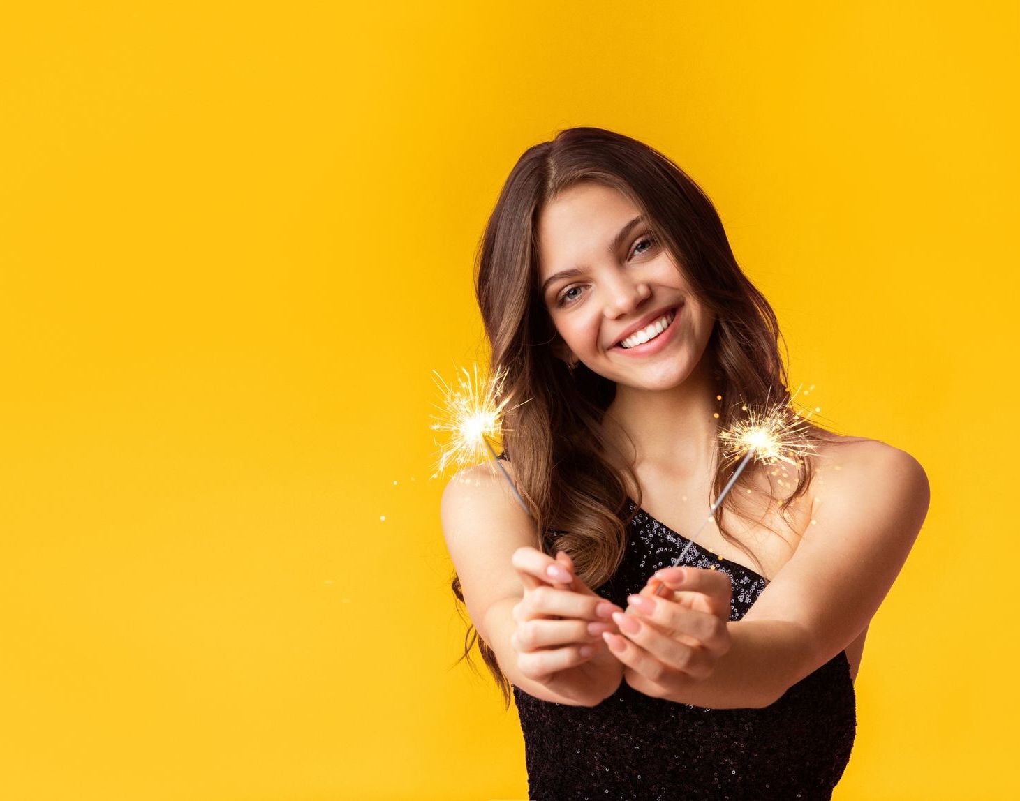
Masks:
[[[727,623],[730,647],[711,674],[663,674],[669,690],[658,697],[711,708],[767,706],[868,625],[917,538],[929,489],[910,455],[875,441],[854,448],[852,459],[833,458],[839,471],[825,472],[816,522],[793,557],[744,619]],[[624,680],[656,694],[647,675],[627,671]]]

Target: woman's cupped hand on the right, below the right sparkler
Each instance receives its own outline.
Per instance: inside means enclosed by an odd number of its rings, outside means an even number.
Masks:
[[[656,596],[659,584],[669,591]],[[732,581],[722,571],[657,571],[640,595],[627,598],[627,612],[613,615],[620,634],[602,635],[623,662],[623,680],[645,695],[670,698],[711,676],[731,645],[732,592]]]

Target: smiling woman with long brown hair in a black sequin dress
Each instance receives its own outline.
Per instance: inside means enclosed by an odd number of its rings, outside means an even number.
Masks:
[[[630,138],[526,151],[475,288],[529,514],[478,465],[442,518],[529,797],[829,798],[868,623],[927,512],[920,465],[807,424],[813,455],[750,463],[701,528],[735,469],[720,427],[789,400],[780,335],[709,199]]]

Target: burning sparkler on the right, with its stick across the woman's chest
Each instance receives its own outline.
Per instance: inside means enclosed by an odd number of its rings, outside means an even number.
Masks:
[[[741,460],[741,464],[733,471],[733,475],[729,477],[729,481],[726,482],[726,486],[719,493],[719,497],[715,499],[715,503],[709,510],[708,517],[699,527],[698,531],[695,532],[694,537],[690,538],[683,550],[680,551],[680,555],[673,559],[673,564],[670,567],[675,568],[683,560],[687,550],[696,544],[698,535],[701,534],[705,526],[715,520],[715,511],[722,503],[723,498],[726,497],[729,490],[732,489],[733,484],[736,483],[736,479],[741,477],[741,473],[750,464],[752,457],[754,457],[756,462],[763,465],[786,462],[793,465],[796,470],[798,457],[815,451],[814,443],[807,436],[806,425],[807,418],[810,418],[813,413],[801,417],[790,406],[798,392],[800,392],[800,387],[790,396],[788,403],[773,404],[764,410],[748,410],[747,419],[737,420],[729,428],[725,428],[719,432],[719,439],[723,443],[723,457],[736,458],[743,453],[744,459]],[[747,407],[744,407],[744,409],[747,409]],[[659,582],[653,595],[664,595],[668,591],[669,589],[666,585]]]

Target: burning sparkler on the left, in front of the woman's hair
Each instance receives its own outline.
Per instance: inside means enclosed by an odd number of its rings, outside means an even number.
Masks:
[[[500,435],[503,415],[526,404],[527,400],[511,407],[509,410],[505,409],[509,400],[509,398],[501,397],[503,382],[506,380],[505,369],[499,370],[495,376],[479,378],[478,366],[474,365],[473,382],[467,370],[463,367],[460,369],[464,377],[458,379],[459,389],[451,387],[443,380],[443,376],[432,370],[432,373],[439,378],[437,384],[443,391],[444,404],[443,407],[436,407],[442,412],[442,416],[438,418],[432,416],[437,422],[430,428],[434,431],[449,431],[451,433],[449,442],[440,448],[440,460],[432,478],[436,478],[451,463],[458,467],[467,467],[487,460],[490,458],[486,453],[488,450],[492,455],[496,467],[500,469],[510,485],[510,489],[513,490],[517,502],[530,517],[524,499],[520,496],[506,469],[500,464],[496,450],[490,442],[491,438]]]

